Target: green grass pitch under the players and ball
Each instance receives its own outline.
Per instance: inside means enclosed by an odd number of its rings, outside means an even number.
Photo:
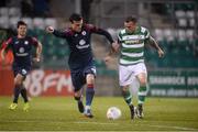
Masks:
[[[94,119],[77,110],[72,97],[32,98],[31,110],[8,109],[11,97],[0,97],[0,131],[198,131],[198,98],[147,98],[145,118],[130,120],[129,109],[121,97],[95,97]],[[122,117],[108,120],[109,107],[119,107]]]

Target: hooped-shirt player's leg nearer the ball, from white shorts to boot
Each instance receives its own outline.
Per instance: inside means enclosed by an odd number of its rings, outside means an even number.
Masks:
[[[134,119],[134,107],[132,103],[132,95],[129,90],[129,85],[132,81],[132,73],[130,72],[129,67],[119,66],[119,84],[122,89],[122,96],[124,101],[130,108],[131,119]]]

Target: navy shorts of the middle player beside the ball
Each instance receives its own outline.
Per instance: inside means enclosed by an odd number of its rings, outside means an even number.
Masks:
[[[78,91],[86,84],[86,75],[92,74],[96,77],[96,67],[87,66],[84,69],[70,72],[74,91]]]

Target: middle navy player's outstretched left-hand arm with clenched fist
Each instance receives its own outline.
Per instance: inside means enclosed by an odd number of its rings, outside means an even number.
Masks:
[[[67,34],[65,32],[55,30],[53,26],[47,26],[46,32],[51,33],[51,34],[54,34],[57,37],[63,37],[63,38],[67,37]]]

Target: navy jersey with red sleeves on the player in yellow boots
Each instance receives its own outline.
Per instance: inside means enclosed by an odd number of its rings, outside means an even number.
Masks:
[[[25,36],[18,38],[16,36],[10,37],[2,48],[11,50],[14,56],[14,67],[30,67],[32,63],[32,46],[37,46],[38,42],[35,37]]]

